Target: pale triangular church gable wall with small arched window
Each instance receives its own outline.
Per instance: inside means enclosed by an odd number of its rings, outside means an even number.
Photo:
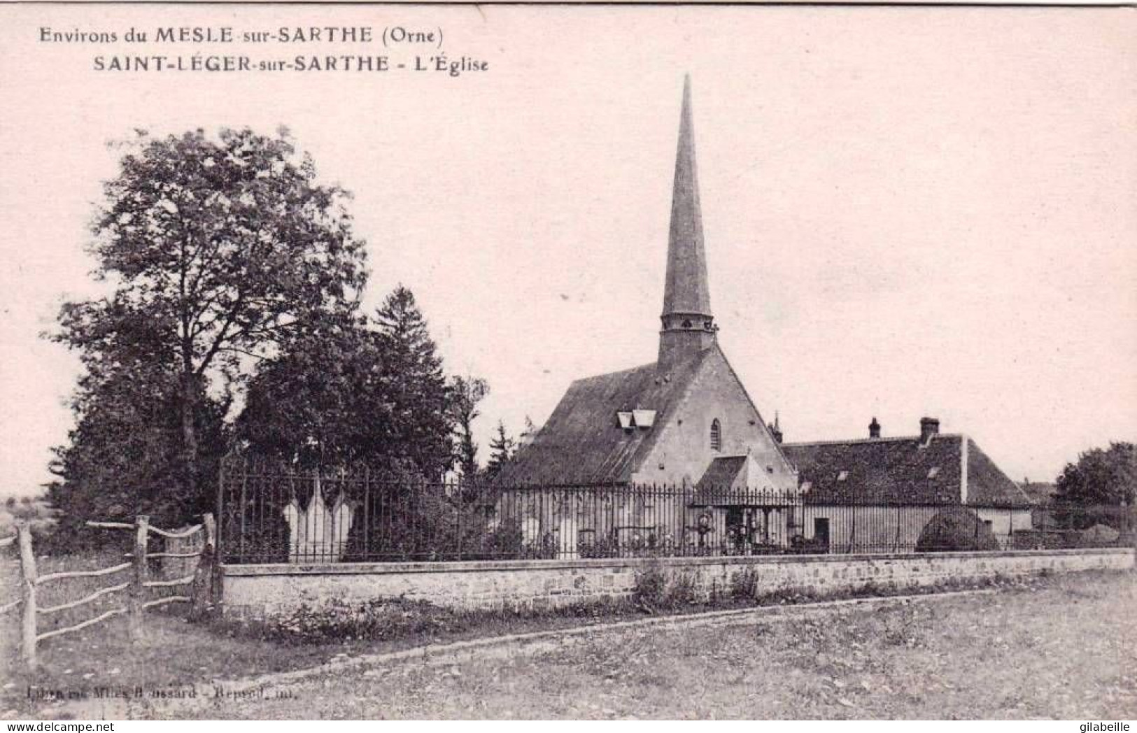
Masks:
[[[715,458],[749,453],[765,470],[757,488],[796,490],[792,465],[786,460],[727,357],[717,344],[705,355],[678,405],[659,425],[650,450],[637,461],[632,481],[694,485]],[[713,440],[715,423],[716,440]]]

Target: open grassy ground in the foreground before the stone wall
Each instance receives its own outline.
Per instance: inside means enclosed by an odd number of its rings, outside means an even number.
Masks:
[[[205,684],[198,699],[60,703],[10,689],[6,705],[51,717],[1134,718],[1135,577],[1081,573],[990,594],[803,607],[786,622],[592,633],[533,653],[316,675],[265,698],[210,699]],[[185,685],[375,649],[284,650],[172,618],[151,630],[134,663],[115,663],[117,675],[92,657],[40,682],[80,684],[82,673],[89,686]]]

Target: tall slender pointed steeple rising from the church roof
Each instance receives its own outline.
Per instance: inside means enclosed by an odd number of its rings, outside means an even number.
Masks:
[[[703,215],[695,164],[691,124],[691,78],[683,78],[679,115],[679,148],[671,194],[671,232],[667,241],[667,280],[663,292],[663,330],[659,332],[659,370],[666,372],[714,343],[714,316],[703,245]]]

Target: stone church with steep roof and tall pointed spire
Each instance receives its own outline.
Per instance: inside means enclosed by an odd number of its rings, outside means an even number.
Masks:
[[[730,366],[717,332],[703,241],[688,78],[680,111],[656,360],[573,382],[497,484],[655,484],[687,489],[689,498],[712,486],[729,489],[736,495],[795,494],[797,470],[779,447],[777,428],[763,420]],[[711,502],[696,503],[705,509]],[[750,527],[761,523],[767,536],[785,538],[788,527],[786,517],[779,517],[780,508],[767,501],[760,506],[755,499],[715,514],[731,514],[733,520]],[[692,511],[698,509],[691,507]],[[677,515],[677,532],[691,522],[683,514]],[[628,522],[634,526],[648,519],[628,517]]]

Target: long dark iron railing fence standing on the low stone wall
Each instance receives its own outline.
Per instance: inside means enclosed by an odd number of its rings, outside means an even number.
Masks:
[[[571,559],[1132,544],[1128,507],[898,501],[736,486],[425,482],[236,457],[225,563]]]

